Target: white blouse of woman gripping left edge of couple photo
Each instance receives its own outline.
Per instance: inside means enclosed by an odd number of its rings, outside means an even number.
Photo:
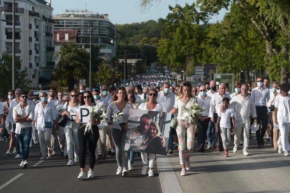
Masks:
[[[107,113],[106,113],[106,119],[108,120],[111,120],[111,110],[113,108],[113,114],[117,114],[118,112],[120,112],[120,110],[117,108],[116,106],[116,103],[115,101],[112,102],[108,109],[107,109]],[[125,106],[125,108],[123,109],[123,116],[122,116],[122,119],[121,119],[121,123],[127,123],[128,122],[128,119],[129,119],[129,110],[130,109],[134,109],[134,107],[132,106],[131,103],[127,102],[127,105]],[[111,125],[112,128],[115,128],[115,129],[120,129],[121,130],[121,127],[118,123],[116,122],[113,122],[113,124]]]

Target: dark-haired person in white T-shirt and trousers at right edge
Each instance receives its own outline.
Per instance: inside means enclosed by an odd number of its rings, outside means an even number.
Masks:
[[[282,90],[282,93],[275,99],[275,123],[279,123],[281,134],[278,145],[282,145],[284,156],[289,156],[288,134],[290,131],[290,94],[288,94],[288,91],[290,87],[288,84],[283,83],[280,85],[280,90]]]

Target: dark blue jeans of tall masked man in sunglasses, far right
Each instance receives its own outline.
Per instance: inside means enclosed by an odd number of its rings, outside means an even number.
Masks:
[[[268,125],[268,109],[265,107],[256,107],[257,112],[257,121],[258,124],[262,122],[262,130],[260,129],[256,131],[256,137],[258,145],[261,145],[261,140],[264,140],[263,137],[266,133],[267,125]]]

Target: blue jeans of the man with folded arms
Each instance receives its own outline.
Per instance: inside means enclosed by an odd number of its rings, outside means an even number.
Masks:
[[[21,128],[20,134],[16,133],[15,137],[19,141],[22,159],[27,160],[29,154],[29,143],[32,137],[32,127]]]

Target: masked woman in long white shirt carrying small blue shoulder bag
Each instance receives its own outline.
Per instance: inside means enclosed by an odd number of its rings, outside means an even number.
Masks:
[[[34,109],[34,121],[32,124],[36,124],[36,129],[38,131],[38,139],[40,144],[41,156],[40,160],[46,159],[45,150],[48,147],[51,150],[51,133],[52,130],[56,130],[56,110],[52,103],[47,103],[47,93],[40,92],[39,98],[40,103],[37,103]],[[49,128],[49,122],[53,122],[52,128]],[[47,126],[47,127],[45,127]]]

